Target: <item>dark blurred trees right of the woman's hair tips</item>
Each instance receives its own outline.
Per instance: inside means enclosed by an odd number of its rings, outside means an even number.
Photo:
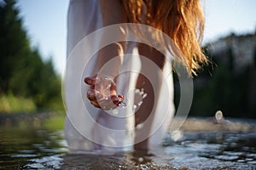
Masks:
[[[195,77],[195,94],[190,111],[192,116],[213,116],[221,110],[224,116],[254,117],[255,110],[249,111],[248,88],[251,83],[249,65],[241,72],[234,71],[234,52],[228,47],[219,54],[207,56],[212,65]],[[203,82],[200,86],[197,82]],[[253,96],[254,99],[254,96]]]

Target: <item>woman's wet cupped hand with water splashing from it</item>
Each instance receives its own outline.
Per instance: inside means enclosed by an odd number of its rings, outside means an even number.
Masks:
[[[87,98],[96,108],[108,111],[118,107],[124,100],[124,95],[116,94],[116,85],[109,77],[85,77],[84,82],[90,85]]]

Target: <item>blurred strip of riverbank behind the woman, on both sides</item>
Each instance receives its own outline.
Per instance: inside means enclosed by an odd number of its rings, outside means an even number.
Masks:
[[[48,123],[48,127],[64,127],[65,112],[24,112],[0,113],[1,127],[37,126]],[[183,132],[256,132],[256,119],[226,117],[222,122],[215,122],[212,117],[175,117],[173,123],[182,125],[178,130]],[[213,121],[212,121],[213,120]]]

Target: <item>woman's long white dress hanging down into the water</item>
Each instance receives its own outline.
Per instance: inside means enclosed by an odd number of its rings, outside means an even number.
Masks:
[[[126,42],[123,53],[132,57],[123,57],[120,68],[122,74],[117,81],[118,94],[129,96],[129,105],[106,113],[90,105],[86,99],[88,86],[83,80],[84,77],[95,74],[95,51],[101,48],[101,39],[106,32],[99,31],[102,27],[102,13],[98,0],[70,1],[67,14],[67,70],[64,93],[67,106],[65,137],[72,151],[107,153],[131,150],[135,129],[143,126],[142,123],[140,127],[134,127],[136,112],[133,104],[137,72],[143,70],[142,62],[148,62],[149,70],[146,69],[143,74],[150,77],[150,71],[154,71],[151,69],[154,64],[138,56],[136,42]],[[134,40],[129,32],[122,30],[122,26],[111,27],[109,31],[116,27],[124,33],[126,39]],[[161,143],[174,113],[171,63],[166,62],[163,70],[162,85],[158,87],[160,98],[154,105],[155,114],[149,140],[151,147]]]

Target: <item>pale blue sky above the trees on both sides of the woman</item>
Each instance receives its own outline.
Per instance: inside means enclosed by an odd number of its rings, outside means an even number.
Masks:
[[[108,1],[108,0],[107,0]],[[20,16],[32,42],[44,59],[52,57],[62,74],[66,65],[67,9],[69,0],[17,0]],[[256,31],[256,0],[204,0],[206,29],[203,42],[234,32]]]

